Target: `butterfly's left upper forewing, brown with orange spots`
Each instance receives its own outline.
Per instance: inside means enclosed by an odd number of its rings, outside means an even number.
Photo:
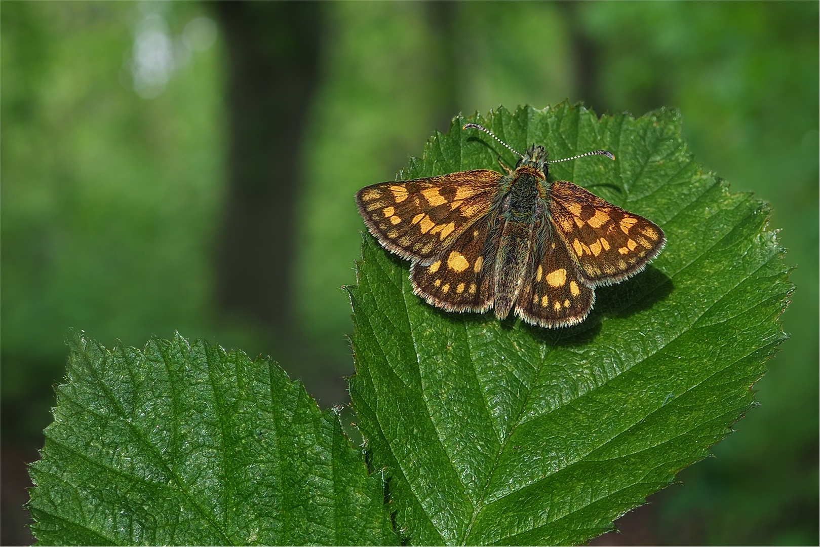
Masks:
[[[502,175],[478,169],[362,188],[356,204],[379,243],[430,265],[493,203]]]

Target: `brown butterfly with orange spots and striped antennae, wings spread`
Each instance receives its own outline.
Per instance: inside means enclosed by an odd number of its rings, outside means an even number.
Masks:
[[[515,314],[547,328],[584,321],[595,287],[643,270],[666,244],[654,222],[574,185],[549,184],[532,144],[506,175],[487,169],[366,186],[356,194],[367,229],[412,262],[413,292],[447,312]],[[612,153],[595,150],[579,157]]]

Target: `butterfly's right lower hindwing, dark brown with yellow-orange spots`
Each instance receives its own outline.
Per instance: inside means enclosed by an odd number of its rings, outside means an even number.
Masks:
[[[556,328],[584,321],[595,295],[585,285],[562,239],[547,230],[544,247],[531,267],[518,295],[518,317],[533,325]]]

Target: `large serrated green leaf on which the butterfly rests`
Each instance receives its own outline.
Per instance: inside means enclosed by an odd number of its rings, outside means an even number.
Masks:
[[[768,206],[686,153],[677,112],[599,120],[563,103],[476,117],[518,150],[611,150],[616,162],[550,175],[649,217],[667,246],[640,275],[597,289],[584,323],[545,330],[430,307],[408,263],[367,235],[349,289],[358,426],[412,544],[582,544],[706,458],[752,406],[750,386],[786,339],[784,251]],[[499,156],[515,165],[465,121],[399,178],[499,170]]]

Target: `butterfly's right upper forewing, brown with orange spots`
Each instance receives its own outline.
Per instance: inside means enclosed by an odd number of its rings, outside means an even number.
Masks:
[[[550,186],[549,216],[589,285],[611,285],[641,271],[666,238],[658,225],[578,185]]]

